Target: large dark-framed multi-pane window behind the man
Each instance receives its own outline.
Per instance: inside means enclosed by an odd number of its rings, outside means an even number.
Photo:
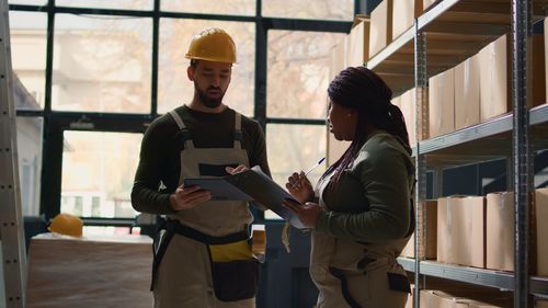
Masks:
[[[330,52],[357,0],[9,3],[24,215],[68,212],[95,219],[90,232],[127,231],[141,133],[191,102],[184,55],[207,26],[236,42],[225,103],[265,130],[274,180],[284,185],[326,156]],[[106,218],[117,227],[96,227]]]

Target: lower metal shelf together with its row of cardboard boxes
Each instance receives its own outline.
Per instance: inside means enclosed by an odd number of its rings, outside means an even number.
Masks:
[[[537,189],[533,198],[537,206],[530,214],[529,293],[548,297],[548,242],[541,236],[548,233],[544,224],[548,189]],[[499,192],[425,202],[421,212],[427,219],[420,220],[424,227],[418,250],[420,274],[515,290],[513,199],[512,192]],[[415,273],[413,256],[414,242],[410,241],[398,262]]]

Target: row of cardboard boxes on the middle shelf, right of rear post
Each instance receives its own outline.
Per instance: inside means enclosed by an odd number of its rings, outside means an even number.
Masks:
[[[546,103],[544,36],[533,37],[533,95],[529,107]],[[503,35],[429,80],[430,137],[436,137],[512,112],[509,39]]]

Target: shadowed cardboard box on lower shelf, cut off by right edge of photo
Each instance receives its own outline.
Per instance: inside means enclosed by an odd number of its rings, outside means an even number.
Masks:
[[[535,214],[537,226],[537,274],[548,276],[548,189],[535,191]]]

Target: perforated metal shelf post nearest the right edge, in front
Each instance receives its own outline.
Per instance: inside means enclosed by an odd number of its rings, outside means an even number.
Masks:
[[[532,53],[532,0],[512,0],[512,156],[514,170],[515,247],[514,307],[527,308],[529,299],[528,230],[529,192],[533,176],[529,166],[529,114]]]

